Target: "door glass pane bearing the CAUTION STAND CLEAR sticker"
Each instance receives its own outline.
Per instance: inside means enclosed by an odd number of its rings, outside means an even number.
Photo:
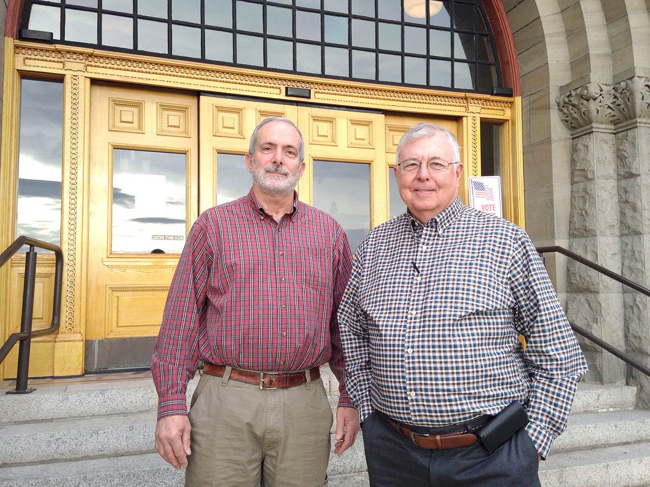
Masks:
[[[113,149],[112,253],[181,253],[186,186],[187,154]]]

